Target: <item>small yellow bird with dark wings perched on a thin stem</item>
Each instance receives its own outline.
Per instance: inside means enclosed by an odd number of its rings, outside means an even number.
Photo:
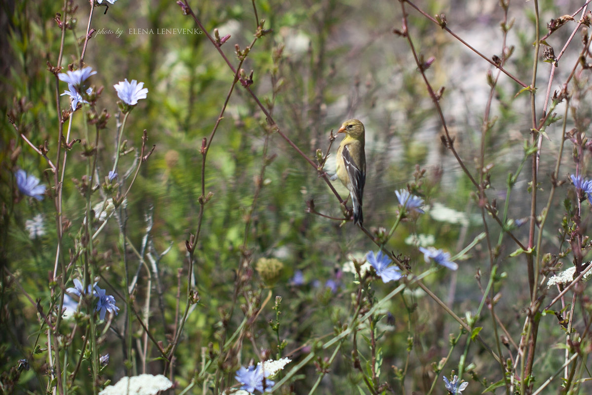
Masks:
[[[337,133],[345,133],[345,139],[337,149],[336,176],[349,190],[352,197],[353,223],[361,225],[362,195],[366,182],[366,154],[364,153],[364,126],[356,120],[345,121]]]

